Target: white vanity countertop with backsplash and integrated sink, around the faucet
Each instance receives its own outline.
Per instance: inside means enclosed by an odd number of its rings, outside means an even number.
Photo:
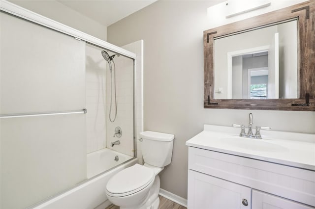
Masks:
[[[315,134],[261,130],[262,139],[252,139],[240,137],[240,131],[204,125],[186,145],[315,171]]]

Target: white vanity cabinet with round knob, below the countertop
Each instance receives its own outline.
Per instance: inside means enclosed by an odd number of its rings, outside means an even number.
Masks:
[[[314,207],[314,171],[189,146],[189,209]]]

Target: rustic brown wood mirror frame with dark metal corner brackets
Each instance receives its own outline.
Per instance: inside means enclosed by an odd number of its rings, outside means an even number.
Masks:
[[[293,18],[298,18],[299,99],[214,99],[214,38]],[[204,108],[315,111],[315,0],[205,30],[203,38]]]

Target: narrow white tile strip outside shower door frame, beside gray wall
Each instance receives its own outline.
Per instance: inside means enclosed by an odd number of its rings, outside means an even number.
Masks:
[[[127,44],[122,48],[136,54],[136,146],[137,157],[140,164],[143,164],[143,157],[140,147],[139,133],[143,131],[143,40]]]

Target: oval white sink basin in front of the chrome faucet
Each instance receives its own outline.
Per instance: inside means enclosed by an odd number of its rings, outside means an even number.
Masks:
[[[220,138],[221,143],[228,144],[232,147],[237,147],[245,150],[259,151],[259,152],[286,152],[287,148],[262,141],[261,139],[233,137],[233,138]]]

